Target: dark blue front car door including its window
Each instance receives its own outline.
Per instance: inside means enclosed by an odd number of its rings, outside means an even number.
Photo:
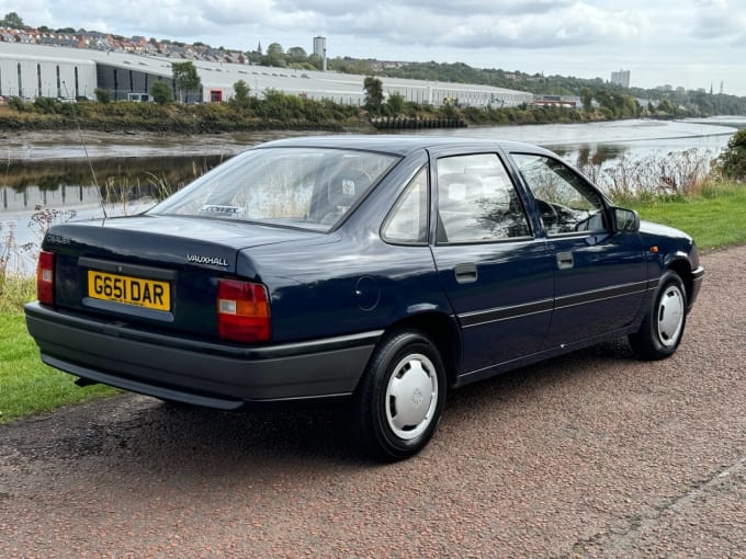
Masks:
[[[611,230],[609,204],[567,164],[511,153],[533,196],[554,269],[554,312],[543,349],[622,330],[647,286],[640,235]]]

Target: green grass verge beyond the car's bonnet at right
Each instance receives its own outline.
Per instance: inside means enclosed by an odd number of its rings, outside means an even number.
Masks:
[[[629,205],[648,221],[688,232],[702,250],[746,243],[746,185],[708,186],[697,196]]]

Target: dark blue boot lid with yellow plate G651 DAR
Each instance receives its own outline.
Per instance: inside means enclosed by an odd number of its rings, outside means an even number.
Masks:
[[[244,280],[261,282],[250,249],[324,237],[238,221],[134,216],[56,225],[43,249],[55,253],[58,308],[216,336],[218,278],[240,270]]]

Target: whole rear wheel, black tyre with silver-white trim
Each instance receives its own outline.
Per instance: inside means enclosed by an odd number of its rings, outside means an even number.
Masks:
[[[385,338],[355,392],[355,442],[377,460],[414,456],[430,441],[443,413],[445,369],[425,334],[406,330]]]

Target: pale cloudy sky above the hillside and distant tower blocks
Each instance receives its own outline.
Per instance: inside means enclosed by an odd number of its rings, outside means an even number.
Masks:
[[[704,89],[746,96],[744,0],[0,0],[26,25],[253,50],[279,43],[378,60]]]

